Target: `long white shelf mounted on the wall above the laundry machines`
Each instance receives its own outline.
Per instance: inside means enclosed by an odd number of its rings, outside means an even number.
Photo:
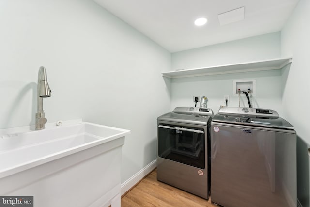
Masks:
[[[162,76],[168,78],[183,78],[194,76],[210,76],[227,73],[241,73],[262,70],[277,70],[285,65],[292,63],[292,58],[277,58],[263,61],[254,61],[239,64],[226,64],[211,67],[202,67],[194,69],[175,70],[162,73]]]

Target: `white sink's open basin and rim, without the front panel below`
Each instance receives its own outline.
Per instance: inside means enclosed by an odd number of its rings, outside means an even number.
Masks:
[[[126,129],[82,121],[64,123],[62,126],[46,125],[46,129],[38,131],[25,129],[0,130],[0,178],[130,133]]]

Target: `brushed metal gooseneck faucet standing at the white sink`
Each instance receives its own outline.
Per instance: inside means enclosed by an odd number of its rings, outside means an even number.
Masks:
[[[47,82],[47,70],[41,66],[38,74],[38,112],[35,114],[35,130],[45,128],[47,118],[44,117],[43,98],[50,97],[51,93]]]

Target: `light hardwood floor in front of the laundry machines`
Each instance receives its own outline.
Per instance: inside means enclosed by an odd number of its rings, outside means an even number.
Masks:
[[[121,207],[218,207],[211,199],[174,188],[156,179],[156,169],[121,200]]]

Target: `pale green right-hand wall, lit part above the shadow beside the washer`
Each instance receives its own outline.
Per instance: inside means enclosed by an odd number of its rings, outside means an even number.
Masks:
[[[310,1],[300,0],[281,32],[282,56],[293,56],[290,68],[283,71],[285,117],[296,126],[299,136],[310,143],[308,117],[310,96]]]

